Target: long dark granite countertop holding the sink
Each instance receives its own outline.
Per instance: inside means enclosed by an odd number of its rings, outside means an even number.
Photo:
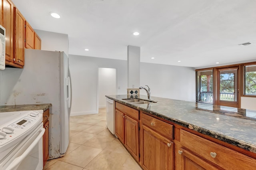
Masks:
[[[134,104],[122,99],[134,98],[130,95],[106,95],[106,97],[238,146],[256,153],[256,111],[151,97],[157,103]],[[136,98],[148,99],[145,95]]]

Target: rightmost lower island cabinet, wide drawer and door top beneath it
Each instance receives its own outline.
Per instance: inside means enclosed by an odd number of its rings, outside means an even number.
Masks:
[[[182,151],[182,155],[184,155],[183,161],[185,163],[187,162],[190,166],[193,164],[194,166],[203,167],[204,164],[211,164],[211,169],[256,169],[255,159],[187,132],[186,130],[180,130],[180,144],[182,145],[180,151]],[[204,160],[204,162],[200,164],[202,160]],[[192,163],[192,161],[197,163],[197,165]],[[210,169],[207,167],[205,169]],[[186,166],[184,168],[186,169]]]

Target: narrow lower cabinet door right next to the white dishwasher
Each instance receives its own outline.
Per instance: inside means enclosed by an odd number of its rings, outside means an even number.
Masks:
[[[116,136],[124,143],[124,113],[116,110]]]

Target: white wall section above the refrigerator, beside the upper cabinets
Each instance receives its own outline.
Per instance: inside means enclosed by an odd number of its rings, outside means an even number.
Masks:
[[[41,49],[47,51],[64,51],[68,55],[68,35],[43,30],[35,30],[41,38]]]

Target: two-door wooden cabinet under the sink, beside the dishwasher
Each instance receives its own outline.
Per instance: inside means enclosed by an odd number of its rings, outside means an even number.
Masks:
[[[139,111],[116,103],[116,136],[139,161]]]

